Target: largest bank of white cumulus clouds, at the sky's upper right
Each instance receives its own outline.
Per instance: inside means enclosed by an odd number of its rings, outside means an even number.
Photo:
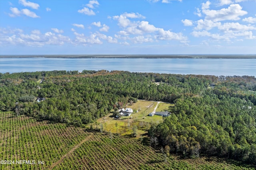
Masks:
[[[210,37],[209,41],[223,40],[232,42],[232,40],[238,41],[239,37],[255,39],[255,36],[252,34],[252,30],[256,30],[254,25],[243,25],[239,22],[223,22],[226,20],[240,20],[241,16],[247,14],[246,11],[242,10],[242,7],[239,4],[234,4],[238,1],[241,2],[243,0],[219,0],[219,4],[216,4],[217,7],[228,5],[227,8],[222,8],[220,10],[211,10],[210,1],[202,3],[202,14],[204,14],[205,17],[203,20],[201,19],[193,22],[196,26],[194,27],[195,31],[191,34],[194,37]],[[199,12],[200,16],[202,16],[201,11],[197,9],[197,13]],[[244,18],[242,21],[256,23],[256,18],[248,17]],[[210,32],[209,30],[212,31]]]

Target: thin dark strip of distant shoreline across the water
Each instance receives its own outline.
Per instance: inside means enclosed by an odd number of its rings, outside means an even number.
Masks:
[[[0,58],[144,58],[144,59],[256,59],[256,54],[245,55],[0,55]]]

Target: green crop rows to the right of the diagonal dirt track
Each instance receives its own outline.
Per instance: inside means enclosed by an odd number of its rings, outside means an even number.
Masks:
[[[230,165],[226,162],[208,162],[203,158],[196,160],[176,159],[170,156],[167,162],[163,155],[140,141],[114,136],[111,140],[108,134],[96,133],[72,154],[64,158],[54,170],[112,170],[112,169],[186,169],[186,170],[214,170],[214,169],[246,169]],[[194,163],[197,162],[197,163]]]

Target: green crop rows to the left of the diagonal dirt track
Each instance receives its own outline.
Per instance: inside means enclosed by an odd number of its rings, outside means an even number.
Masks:
[[[85,137],[81,128],[0,113],[0,158],[15,162],[0,167],[2,170],[47,169]],[[35,160],[36,164],[17,164],[17,160]],[[38,165],[38,160],[44,164]]]

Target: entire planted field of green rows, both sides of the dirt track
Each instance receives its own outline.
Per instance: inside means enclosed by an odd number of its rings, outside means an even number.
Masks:
[[[215,157],[180,159],[170,155],[165,162],[160,150],[142,145],[141,140],[32,117],[13,117],[11,112],[0,112],[0,147],[2,160],[14,160],[14,164],[1,164],[1,170],[254,169]],[[31,162],[16,162],[22,160]]]

